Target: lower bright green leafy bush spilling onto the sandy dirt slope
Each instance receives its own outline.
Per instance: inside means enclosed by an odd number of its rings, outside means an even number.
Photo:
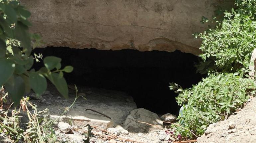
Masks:
[[[170,89],[175,89],[171,84]],[[179,116],[180,125],[188,128],[196,135],[204,133],[206,127],[214,122],[225,119],[255,94],[256,85],[253,80],[241,78],[239,75],[209,75],[191,89],[179,90],[176,97],[178,104],[183,106],[183,116]],[[176,134],[193,138],[194,135],[179,126]]]

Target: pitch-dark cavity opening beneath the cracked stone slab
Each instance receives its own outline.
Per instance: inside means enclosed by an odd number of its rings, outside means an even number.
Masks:
[[[33,53],[62,58],[62,66],[72,65],[72,73],[65,73],[68,84],[127,92],[137,108],[157,114],[179,114],[175,97],[169,89],[175,82],[183,88],[197,84],[202,75],[196,74],[193,54],[163,51],[71,49],[68,47],[36,48]],[[35,69],[42,62],[34,64]]]

